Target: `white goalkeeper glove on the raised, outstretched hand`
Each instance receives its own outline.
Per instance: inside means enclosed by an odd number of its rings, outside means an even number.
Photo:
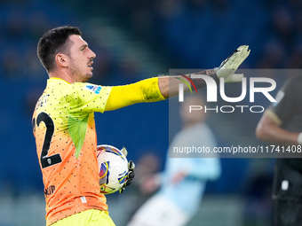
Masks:
[[[245,58],[250,55],[248,45],[241,45],[228,58],[226,58],[218,68],[215,68],[219,78],[224,78],[225,82],[242,82],[243,74],[234,74]]]

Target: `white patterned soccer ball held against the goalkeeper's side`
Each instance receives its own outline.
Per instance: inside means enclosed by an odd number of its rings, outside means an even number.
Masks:
[[[98,145],[97,158],[99,163],[100,192],[110,194],[123,187],[128,175],[128,160],[114,146]]]

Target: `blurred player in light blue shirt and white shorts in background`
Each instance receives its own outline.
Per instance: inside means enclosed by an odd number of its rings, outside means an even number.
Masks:
[[[205,113],[189,113],[189,105],[203,105],[203,100],[197,96],[185,99],[179,109],[183,128],[173,138],[170,149],[194,145],[213,150],[217,146],[216,138],[204,122]],[[139,208],[128,226],[186,225],[198,211],[207,181],[218,179],[221,171],[217,155],[200,158],[202,156],[202,153],[197,153],[195,158],[167,156],[163,174],[157,177],[159,180],[156,182],[154,177],[147,181],[154,189],[161,185],[160,190]]]

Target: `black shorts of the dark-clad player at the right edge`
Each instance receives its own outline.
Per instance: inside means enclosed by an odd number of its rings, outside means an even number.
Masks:
[[[274,199],[274,226],[302,226],[302,202]]]

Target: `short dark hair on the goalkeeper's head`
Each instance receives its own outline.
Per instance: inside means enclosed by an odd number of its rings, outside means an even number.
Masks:
[[[54,69],[54,58],[60,51],[67,53],[67,41],[70,35],[82,35],[78,27],[55,27],[47,31],[37,44],[37,56],[47,72]]]

